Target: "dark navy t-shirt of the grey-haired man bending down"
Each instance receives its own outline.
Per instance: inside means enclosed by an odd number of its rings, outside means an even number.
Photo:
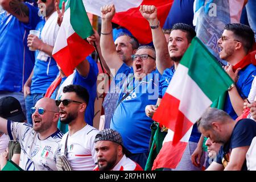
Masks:
[[[232,135],[224,146],[221,146],[218,152],[216,162],[218,164],[228,165],[230,154],[233,148],[250,146],[251,141],[256,136],[256,122],[252,119],[241,119],[236,123]],[[242,171],[247,171],[246,159],[243,162]]]

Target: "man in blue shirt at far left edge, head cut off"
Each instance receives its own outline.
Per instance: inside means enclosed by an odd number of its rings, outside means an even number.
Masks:
[[[15,97],[26,113],[23,85],[35,63],[26,44],[40,21],[38,8],[23,0],[1,0],[0,6],[5,10],[0,14],[0,98]]]

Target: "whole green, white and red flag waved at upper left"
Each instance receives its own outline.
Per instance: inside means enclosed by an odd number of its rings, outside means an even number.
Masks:
[[[65,76],[71,75],[77,65],[94,51],[86,41],[90,35],[93,35],[93,30],[82,0],[68,1],[52,52]]]

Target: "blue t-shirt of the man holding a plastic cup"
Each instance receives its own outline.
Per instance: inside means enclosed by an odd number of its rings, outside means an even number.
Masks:
[[[39,30],[40,34],[45,23],[46,21],[42,20],[36,26],[36,30]],[[48,57],[47,61],[42,61],[37,59],[38,53],[39,50],[36,50],[34,74],[32,76],[31,83],[31,93],[46,93],[46,90],[59,73],[59,68],[57,67],[56,61],[53,59],[53,57]]]

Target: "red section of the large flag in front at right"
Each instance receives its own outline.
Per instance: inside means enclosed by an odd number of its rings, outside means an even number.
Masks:
[[[179,110],[180,100],[166,92],[158,110],[153,116],[154,121],[174,131],[173,144],[175,145],[187,133],[193,123]]]

